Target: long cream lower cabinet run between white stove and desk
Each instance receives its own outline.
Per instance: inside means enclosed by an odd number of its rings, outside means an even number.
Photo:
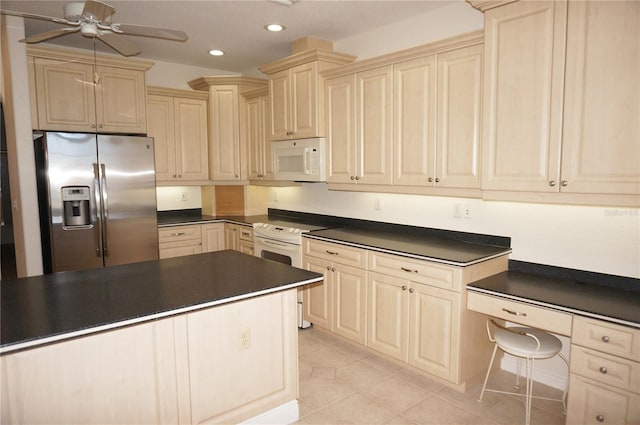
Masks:
[[[506,270],[507,256],[455,267],[309,238],[303,255],[325,276],[305,289],[306,320],[462,387],[486,371],[485,319],[464,308],[465,285]]]

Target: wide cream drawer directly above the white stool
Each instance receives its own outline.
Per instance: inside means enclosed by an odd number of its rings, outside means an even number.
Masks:
[[[571,315],[544,307],[469,292],[467,294],[467,308],[525,326],[544,329],[560,335],[571,335]]]

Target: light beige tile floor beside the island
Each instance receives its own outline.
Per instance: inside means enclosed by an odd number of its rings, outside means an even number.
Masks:
[[[298,340],[298,424],[524,423],[522,397],[485,393],[478,403],[481,385],[460,393],[319,328],[299,330]],[[498,371],[490,383],[511,391],[515,376]],[[534,394],[562,395],[538,383]],[[534,400],[531,423],[564,424],[562,403]]]

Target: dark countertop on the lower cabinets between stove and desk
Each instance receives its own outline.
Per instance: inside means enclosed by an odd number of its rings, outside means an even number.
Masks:
[[[511,252],[508,247],[470,243],[428,234],[354,227],[317,230],[304,234],[304,237],[455,266],[468,266]]]

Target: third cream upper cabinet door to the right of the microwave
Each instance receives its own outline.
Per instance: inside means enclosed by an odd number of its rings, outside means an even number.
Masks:
[[[393,183],[434,185],[436,57],[393,66],[395,171]],[[429,183],[431,179],[432,183]]]

